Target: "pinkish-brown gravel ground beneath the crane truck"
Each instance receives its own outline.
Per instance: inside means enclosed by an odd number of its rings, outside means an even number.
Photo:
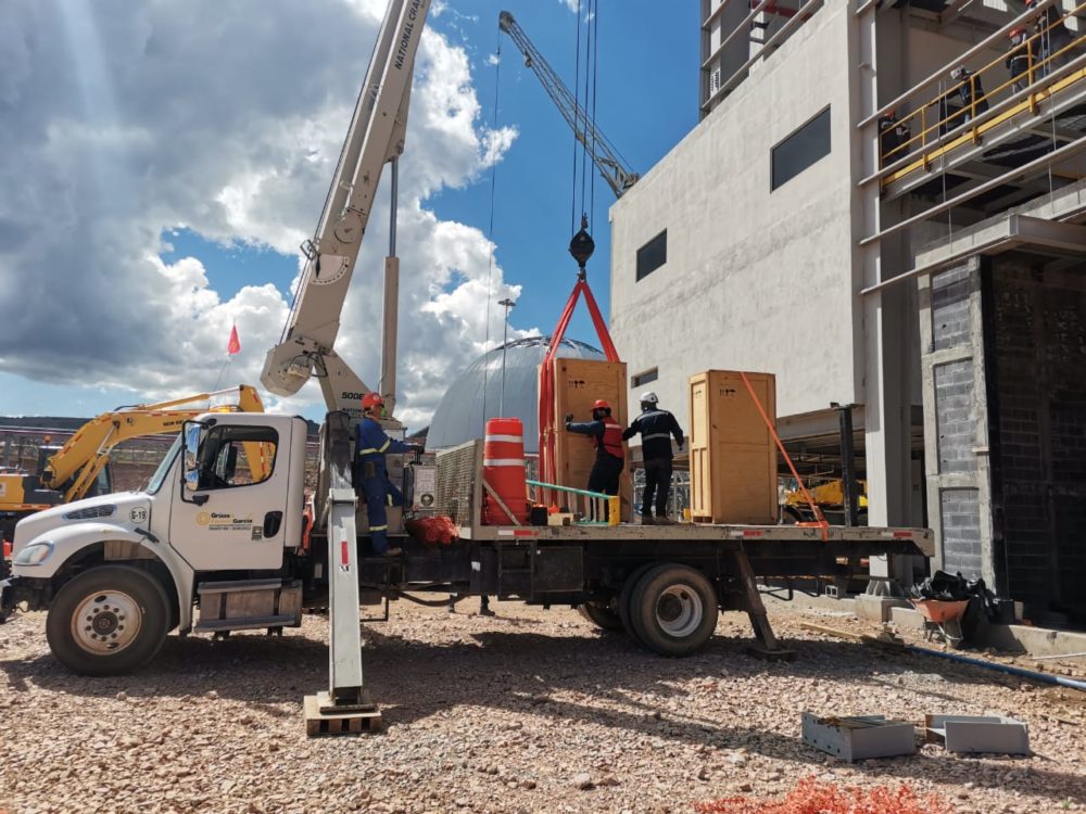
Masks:
[[[645,652],[574,612],[495,602],[496,619],[393,605],[366,626],[382,735],[305,737],[302,696],[327,681],[326,620],[281,639],[172,636],[137,675],[65,673],[45,615],[0,626],[0,810],[35,812],[687,812],[782,796],[806,776],[905,781],[961,814],[1086,811],[1086,694],[804,631],[870,631],[773,606],[791,663],[747,656],[721,616],[689,659]],[[800,712],[998,712],[1030,725],[1031,758],[844,764],[805,748]]]

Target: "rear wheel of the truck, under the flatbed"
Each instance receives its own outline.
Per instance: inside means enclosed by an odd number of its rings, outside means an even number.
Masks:
[[[657,565],[642,574],[630,595],[637,638],[661,656],[690,656],[717,629],[717,592],[689,565]]]

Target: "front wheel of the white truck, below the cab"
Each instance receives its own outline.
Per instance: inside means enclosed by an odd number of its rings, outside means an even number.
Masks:
[[[79,675],[116,675],[142,666],[166,639],[162,585],[128,565],[100,565],[73,577],[49,606],[53,656]]]

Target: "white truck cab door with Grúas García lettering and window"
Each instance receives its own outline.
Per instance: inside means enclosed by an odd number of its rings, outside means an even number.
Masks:
[[[191,434],[181,467],[189,483],[174,486],[180,499],[172,501],[169,542],[194,570],[282,564],[291,429],[278,425],[225,419],[200,429],[199,440]]]

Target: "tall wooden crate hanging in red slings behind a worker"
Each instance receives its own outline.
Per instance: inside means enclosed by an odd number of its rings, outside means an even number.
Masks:
[[[541,368],[542,370],[542,368]],[[599,359],[554,360],[554,415],[556,419],[555,472],[559,486],[588,488],[589,474],[596,459],[595,441],[588,435],[566,432],[563,419],[573,414],[573,421],[592,420],[592,403],[603,398],[611,406],[611,417],[622,429],[629,423],[626,405],[626,363]],[[626,448],[626,445],[622,445]],[[630,454],[619,478],[622,519],[630,519],[633,504],[633,481],[630,478]]]

